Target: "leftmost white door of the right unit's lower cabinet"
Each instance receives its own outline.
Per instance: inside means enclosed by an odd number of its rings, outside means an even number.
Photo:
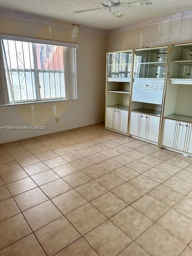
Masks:
[[[164,119],[162,145],[174,148],[174,138],[176,133],[176,121]]]

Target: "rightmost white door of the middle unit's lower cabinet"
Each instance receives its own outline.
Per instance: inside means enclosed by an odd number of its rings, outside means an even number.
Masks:
[[[159,116],[147,116],[147,134],[146,139],[158,142],[158,136],[159,136],[159,124],[160,124],[160,117]]]

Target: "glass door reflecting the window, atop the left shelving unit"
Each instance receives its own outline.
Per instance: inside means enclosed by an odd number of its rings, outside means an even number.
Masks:
[[[132,52],[112,52],[108,54],[108,78],[131,77]]]

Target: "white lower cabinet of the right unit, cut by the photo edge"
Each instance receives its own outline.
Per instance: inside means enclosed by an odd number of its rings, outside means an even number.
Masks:
[[[192,153],[192,123],[165,118],[162,145]]]

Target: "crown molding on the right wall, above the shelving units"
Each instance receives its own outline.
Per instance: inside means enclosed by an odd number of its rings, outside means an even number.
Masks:
[[[137,23],[129,24],[127,26],[122,26],[119,28],[113,28],[113,29],[108,30],[108,34],[115,34],[115,33],[124,32],[124,31],[128,31],[128,30],[136,29],[136,28],[143,28],[143,27],[147,27],[147,26],[171,22],[174,20],[186,19],[186,18],[190,18],[190,17],[192,17],[192,10],[185,11],[185,12],[179,12],[179,13],[164,16],[161,18],[155,18],[153,20],[137,22]]]

